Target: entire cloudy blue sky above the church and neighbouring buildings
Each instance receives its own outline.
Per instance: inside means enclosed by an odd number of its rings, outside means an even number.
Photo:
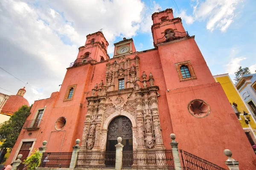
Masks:
[[[182,18],[213,75],[233,77],[240,65],[254,73],[255,6],[255,0],[0,0],[0,67],[21,80],[0,69],[0,92],[16,94],[28,82],[30,104],[48,98],[86,35],[101,28],[111,57],[123,37],[132,37],[137,51],[153,48],[157,8]]]

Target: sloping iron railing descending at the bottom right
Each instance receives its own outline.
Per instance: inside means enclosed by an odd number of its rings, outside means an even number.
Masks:
[[[192,153],[180,150],[183,170],[227,170]]]

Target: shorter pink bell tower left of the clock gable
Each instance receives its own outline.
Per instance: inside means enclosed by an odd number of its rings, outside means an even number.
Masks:
[[[101,62],[110,58],[107,53],[109,44],[101,31],[88,34],[86,38],[84,46],[79,47],[76,59],[82,60],[82,62],[90,60]]]

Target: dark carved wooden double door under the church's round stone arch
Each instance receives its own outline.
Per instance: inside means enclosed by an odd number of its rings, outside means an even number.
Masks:
[[[122,137],[123,150],[133,150],[132,124],[128,117],[118,116],[108,125],[106,151],[116,150],[115,145],[119,136]]]

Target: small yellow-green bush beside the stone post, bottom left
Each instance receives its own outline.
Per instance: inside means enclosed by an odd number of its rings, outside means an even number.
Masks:
[[[27,170],[35,170],[35,168],[40,165],[41,155],[42,153],[39,153],[38,150],[35,150],[35,152],[32,152],[32,154],[23,161],[23,164],[27,164]]]

